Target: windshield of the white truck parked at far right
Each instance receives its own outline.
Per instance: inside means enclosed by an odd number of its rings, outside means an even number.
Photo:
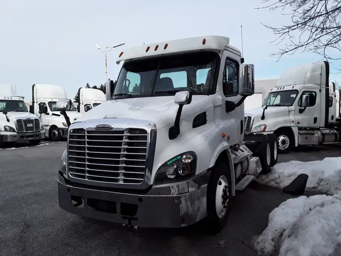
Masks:
[[[297,90],[269,93],[263,102],[263,106],[293,106],[297,94]]]

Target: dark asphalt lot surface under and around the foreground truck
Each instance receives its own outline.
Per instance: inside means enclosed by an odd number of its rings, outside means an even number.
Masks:
[[[291,197],[252,182],[233,200],[224,230],[213,236],[201,223],[136,231],[89,224],[58,206],[57,170],[65,147],[58,142],[0,149],[0,255],[256,255],[252,237],[266,228],[271,210]],[[340,148],[310,147],[279,160],[341,156]]]

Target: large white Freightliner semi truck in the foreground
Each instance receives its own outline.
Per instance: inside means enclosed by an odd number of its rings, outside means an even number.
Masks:
[[[254,66],[223,36],[127,49],[107,101],[70,125],[59,205],[84,220],[225,225],[231,196],[277,161],[274,136],[244,136]],[[70,101],[57,102],[61,112]],[[63,113],[64,113],[63,112]]]

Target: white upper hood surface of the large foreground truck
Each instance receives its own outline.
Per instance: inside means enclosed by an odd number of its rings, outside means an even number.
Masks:
[[[211,107],[213,101],[209,96],[193,95],[191,103],[183,106],[181,119]],[[127,98],[106,101],[84,113],[77,122],[99,118],[132,118],[153,121],[157,129],[161,129],[174,123],[177,110],[174,96]]]

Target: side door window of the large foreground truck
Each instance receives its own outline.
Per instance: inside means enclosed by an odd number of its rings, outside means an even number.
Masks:
[[[223,93],[226,97],[238,95],[238,63],[227,58],[223,74]]]

